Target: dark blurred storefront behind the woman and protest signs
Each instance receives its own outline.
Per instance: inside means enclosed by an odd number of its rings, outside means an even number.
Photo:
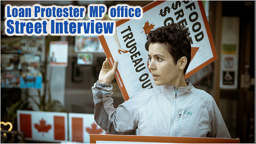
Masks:
[[[128,4],[143,7],[151,2],[153,1],[1,1],[1,122],[11,122],[12,131],[17,131],[17,110],[93,114],[91,87],[97,81],[102,62],[106,58],[98,37],[6,36],[6,4],[85,7],[89,4],[105,4],[107,7]],[[187,81],[213,96],[232,138],[241,139],[241,143],[255,143],[255,1],[203,3],[218,60],[189,77]],[[237,31],[234,31],[234,27],[238,28]],[[225,50],[230,52],[235,49],[223,44],[230,34],[234,35],[235,38],[232,38],[238,46],[235,60],[225,57]],[[58,66],[55,61],[58,61],[58,54],[61,52],[53,51],[54,41],[67,42],[62,45],[68,47],[65,67]],[[236,67],[237,76],[223,70],[223,65]],[[231,88],[223,86],[228,83],[224,75],[232,76],[236,85]],[[117,107],[124,99],[117,83],[113,82],[113,85],[114,106]],[[21,141],[20,138],[15,141],[4,137],[6,131],[3,130],[6,130],[6,126],[2,124],[1,130],[1,142]]]

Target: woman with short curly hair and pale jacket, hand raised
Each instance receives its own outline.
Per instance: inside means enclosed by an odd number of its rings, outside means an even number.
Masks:
[[[149,70],[160,89],[149,89],[113,107],[111,69],[103,62],[99,81],[92,87],[94,119],[105,131],[124,134],[139,129],[139,135],[230,138],[212,96],[185,82],[191,59],[188,29],[177,23],[150,31]]]

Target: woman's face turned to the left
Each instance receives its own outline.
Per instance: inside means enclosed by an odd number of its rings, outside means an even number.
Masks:
[[[179,81],[179,67],[162,43],[150,43],[148,49],[149,66],[156,85],[174,85]]]

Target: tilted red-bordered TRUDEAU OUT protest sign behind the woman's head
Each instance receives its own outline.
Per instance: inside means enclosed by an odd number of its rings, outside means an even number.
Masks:
[[[150,3],[143,7],[141,19],[118,20],[114,36],[99,36],[110,65],[118,61],[116,80],[125,100],[157,87],[148,69],[146,37],[150,30],[173,22],[190,31],[191,62],[185,78],[218,58],[202,1]]]

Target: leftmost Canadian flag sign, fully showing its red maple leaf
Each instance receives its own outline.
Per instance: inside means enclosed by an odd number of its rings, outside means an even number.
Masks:
[[[18,131],[26,140],[60,142],[68,140],[67,113],[17,111]]]

